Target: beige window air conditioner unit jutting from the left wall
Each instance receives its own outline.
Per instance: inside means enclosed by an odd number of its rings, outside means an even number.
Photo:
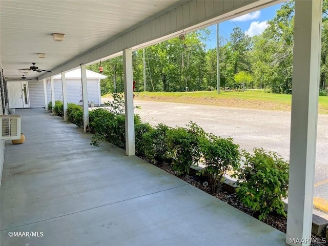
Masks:
[[[19,115],[0,115],[0,139],[20,139]]]

